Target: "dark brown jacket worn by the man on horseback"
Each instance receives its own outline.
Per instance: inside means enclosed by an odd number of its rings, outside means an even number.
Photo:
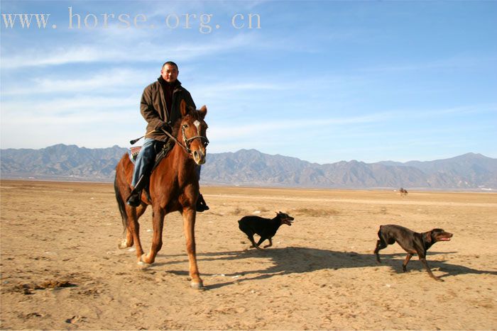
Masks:
[[[175,89],[173,91],[173,106],[171,106],[171,109],[167,109],[167,106],[165,106],[163,87],[161,86],[163,83],[165,83],[164,79],[159,77],[157,82],[148,85],[143,90],[140,102],[141,116],[143,116],[148,123],[146,132],[149,133],[153,131],[153,133],[146,135],[146,138],[161,141],[167,140],[168,136],[157,129],[162,127],[164,123],[168,124],[170,127],[175,125],[176,121],[181,118],[181,101],[185,100],[188,106],[195,107],[190,92],[181,86],[180,81],[176,81]]]

